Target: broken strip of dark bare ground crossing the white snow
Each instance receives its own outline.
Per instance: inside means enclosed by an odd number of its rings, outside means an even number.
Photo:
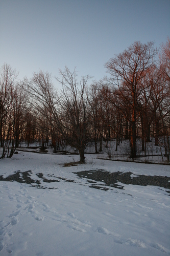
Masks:
[[[33,180],[31,177],[31,170],[27,172],[20,172],[19,170],[12,175],[4,178],[3,175],[0,176],[0,181],[16,181],[19,183],[27,183],[32,186],[36,186],[38,188],[46,188],[43,185],[43,182],[51,183],[51,182],[59,182],[60,180],[64,180],[66,182],[76,182],[74,180],[68,180],[61,177],[56,177],[53,175],[47,175],[48,178],[53,177],[53,179],[44,178],[42,173],[36,174],[39,179]],[[82,172],[74,173],[79,176],[80,179],[86,179],[87,183],[89,183],[89,187],[98,188],[108,190],[108,187],[116,187],[119,189],[124,189],[123,184],[132,184],[139,186],[159,186],[164,187],[166,189],[170,189],[170,177],[164,176],[145,176],[145,175],[136,175],[132,176],[133,173],[110,173],[103,169],[98,170],[85,170]],[[101,182],[101,183],[100,183]],[[121,182],[122,184],[118,184]],[[34,185],[35,184],[35,185]],[[167,191],[170,193],[170,190]]]

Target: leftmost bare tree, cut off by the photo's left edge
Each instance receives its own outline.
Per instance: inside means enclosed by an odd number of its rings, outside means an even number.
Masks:
[[[17,73],[5,64],[0,77],[0,139],[3,148],[1,158],[11,157],[23,132],[26,110],[23,84],[16,81]]]

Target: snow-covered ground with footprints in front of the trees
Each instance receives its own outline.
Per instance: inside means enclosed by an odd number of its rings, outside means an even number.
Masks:
[[[87,154],[86,164],[64,167],[79,156],[18,153],[0,159],[0,175],[30,170],[30,177],[45,189],[32,186],[36,183],[0,181],[0,255],[170,255],[168,189],[124,184],[124,189],[104,191],[74,174],[104,169],[170,177],[169,165]],[[40,173],[57,181],[44,182]]]

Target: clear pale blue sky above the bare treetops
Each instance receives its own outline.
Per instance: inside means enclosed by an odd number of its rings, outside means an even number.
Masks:
[[[9,64],[18,79],[76,67],[98,81],[134,41],[166,42],[169,13],[169,0],[0,0],[0,67]]]

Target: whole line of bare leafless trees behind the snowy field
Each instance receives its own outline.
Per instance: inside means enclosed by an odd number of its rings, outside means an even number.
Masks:
[[[170,40],[160,51],[153,42],[135,41],[106,64],[109,77],[78,81],[76,69],[60,70],[57,92],[48,72],[31,79],[17,79],[17,72],[5,64],[0,78],[0,153],[11,157],[21,141],[39,141],[54,151],[70,145],[85,162],[85,147],[93,142],[95,153],[102,142],[115,139],[117,147],[129,140],[130,157],[137,157],[137,140],[146,154],[153,137],[155,145],[170,154]]]

